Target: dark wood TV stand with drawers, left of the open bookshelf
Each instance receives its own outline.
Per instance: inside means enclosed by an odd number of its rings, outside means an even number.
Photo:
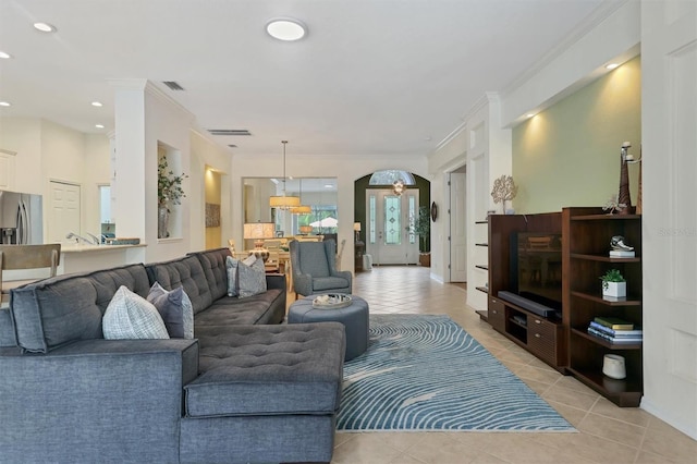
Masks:
[[[565,374],[567,351],[562,319],[542,317],[498,296],[511,290],[511,234],[514,232],[561,233],[561,212],[539,215],[491,215],[489,221],[489,302],[479,312],[491,327],[545,363]]]

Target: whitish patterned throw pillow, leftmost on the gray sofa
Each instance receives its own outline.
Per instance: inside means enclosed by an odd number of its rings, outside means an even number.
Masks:
[[[155,306],[121,285],[101,320],[105,339],[169,339],[167,327]]]

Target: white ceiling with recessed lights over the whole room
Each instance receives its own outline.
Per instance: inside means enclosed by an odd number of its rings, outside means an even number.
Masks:
[[[13,57],[0,60],[0,100],[12,103],[0,115],[107,133],[108,81],[147,78],[201,129],[248,130],[212,137],[232,152],[278,156],[288,139],[295,154],[426,155],[485,91],[623,1],[0,0],[0,50]],[[308,35],[270,38],[276,16]]]

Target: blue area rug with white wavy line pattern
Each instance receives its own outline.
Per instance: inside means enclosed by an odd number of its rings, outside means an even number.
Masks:
[[[338,430],[575,431],[448,316],[372,315]]]

